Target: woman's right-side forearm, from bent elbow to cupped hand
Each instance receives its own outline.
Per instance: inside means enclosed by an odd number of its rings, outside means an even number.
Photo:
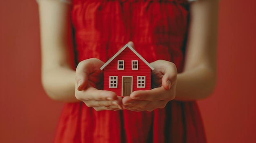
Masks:
[[[177,75],[175,100],[190,101],[208,97],[216,85],[216,72],[198,66]]]

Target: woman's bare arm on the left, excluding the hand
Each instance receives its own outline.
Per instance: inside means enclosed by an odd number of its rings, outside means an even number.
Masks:
[[[70,39],[70,5],[55,0],[39,0],[42,53],[42,84],[54,100],[78,101],[75,71],[68,50]]]

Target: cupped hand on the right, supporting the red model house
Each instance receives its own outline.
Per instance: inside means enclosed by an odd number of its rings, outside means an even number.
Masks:
[[[124,97],[122,103],[131,111],[153,111],[164,108],[175,98],[177,68],[172,62],[157,60],[150,63],[155,69],[151,73],[151,90],[137,90]]]

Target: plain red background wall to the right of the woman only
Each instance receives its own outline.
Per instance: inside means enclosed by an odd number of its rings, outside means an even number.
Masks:
[[[221,0],[218,83],[199,101],[209,143],[256,143],[255,0]]]

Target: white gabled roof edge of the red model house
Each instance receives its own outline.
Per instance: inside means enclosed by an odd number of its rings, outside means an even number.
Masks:
[[[121,48],[113,57],[111,57],[108,62],[106,62],[103,66],[101,66],[101,70],[103,70],[113,59],[115,59],[115,57],[117,57],[122,51],[124,51],[124,49],[126,48],[130,48],[130,50],[135,53],[135,55],[137,55],[146,65],[148,65],[148,67],[150,67],[151,70],[154,70],[153,66],[151,66],[143,57],[141,57],[141,55],[139,55],[139,53],[137,53],[134,48],[132,48],[132,46],[130,46],[128,43],[126,45],[124,45],[123,48]]]

